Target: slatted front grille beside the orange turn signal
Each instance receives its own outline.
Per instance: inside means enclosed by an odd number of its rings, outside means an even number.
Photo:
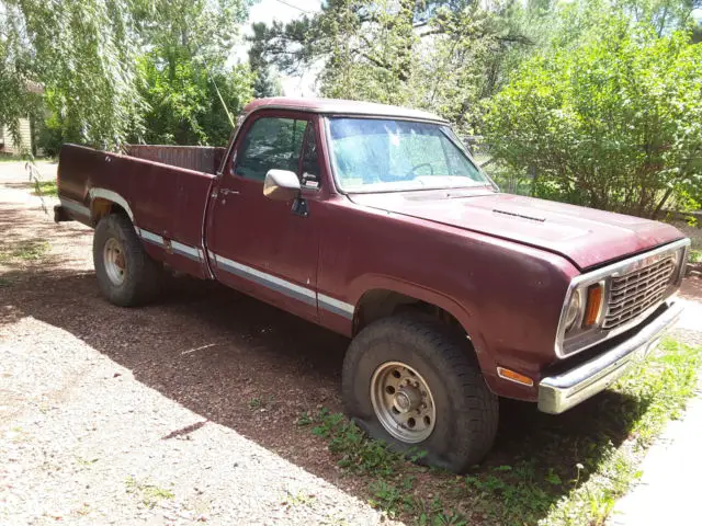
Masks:
[[[672,256],[612,278],[603,329],[614,329],[658,305],[666,297],[676,270]]]

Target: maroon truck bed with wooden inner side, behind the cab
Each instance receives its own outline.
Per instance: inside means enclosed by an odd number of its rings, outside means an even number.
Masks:
[[[151,256],[166,263],[177,259],[172,263],[204,277],[208,271],[203,256],[203,221],[224,150],[129,146],[127,155],[120,155],[64,145],[58,195],[71,217],[89,226],[94,226],[101,199],[105,206],[116,203],[132,219]],[[163,247],[163,239],[179,243]]]

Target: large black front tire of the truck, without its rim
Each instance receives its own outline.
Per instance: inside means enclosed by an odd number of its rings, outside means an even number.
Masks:
[[[395,438],[375,414],[371,380],[387,362],[407,364],[431,390],[434,428],[420,443]],[[394,316],[364,328],[343,362],[342,396],[349,415],[370,436],[398,451],[427,451],[422,464],[464,472],[484,459],[495,441],[498,399],[485,384],[469,342],[429,317]]]

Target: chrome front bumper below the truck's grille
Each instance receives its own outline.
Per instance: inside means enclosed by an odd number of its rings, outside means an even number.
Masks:
[[[539,410],[558,414],[607,389],[633,365],[642,362],[656,347],[663,334],[682,312],[682,306],[668,309],[648,322],[641,331],[610,351],[573,369],[547,376],[539,384]]]

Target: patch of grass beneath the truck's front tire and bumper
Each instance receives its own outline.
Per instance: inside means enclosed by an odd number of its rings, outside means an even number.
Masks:
[[[393,518],[602,525],[641,476],[647,447],[681,415],[701,367],[702,347],[667,340],[610,390],[563,415],[506,404],[494,451],[462,477],[409,464],[338,413],[303,413],[298,425],[314,424],[312,432],[327,441],[343,471],[365,482],[369,502]]]

